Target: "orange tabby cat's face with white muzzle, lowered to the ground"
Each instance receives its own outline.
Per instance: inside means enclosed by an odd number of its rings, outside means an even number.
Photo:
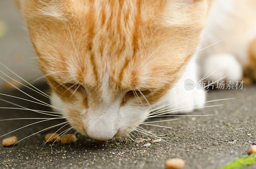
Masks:
[[[130,133],[179,80],[206,0],[25,0],[39,67],[85,136]]]

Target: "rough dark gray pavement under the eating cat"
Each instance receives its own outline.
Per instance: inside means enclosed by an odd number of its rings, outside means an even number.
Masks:
[[[41,89],[45,89],[45,87],[42,86]],[[4,92],[29,99],[16,90]],[[29,89],[25,92],[48,102],[47,98],[40,97]],[[50,110],[47,107],[19,99],[2,96],[1,98],[31,109]],[[135,143],[131,139],[123,137],[122,140],[113,139],[102,146],[96,145],[90,138],[76,135],[79,139],[74,144],[55,143],[52,149],[60,153],[54,153],[49,144],[40,148],[40,145],[44,143],[44,135],[58,129],[54,128],[18,143],[13,147],[12,154],[11,148],[0,146],[0,168],[164,168],[164,161],[168,158],[183,158],[186,160],[185,168],[224,166],[246,154],[252,143],[256,142],[256,86],[246,87],[243,90],[213,90],[208,92],[208,100],[223,98],[236,99],[220,101],[214,104],[224,104],[223,106],[205,108],[190,114],[216,114],[216,116],[180,117],[180,120],[177,121],[156,123],[156,125],[168,126],[173,129],[142,125],[143,128],[152,133],[170,137],[168,143],[152,142],[152,140]],[[0,107],[11,107],[11,105],[1,101]],[[1,119],[49,117],[24,110],[7,109],[0,111]],[[166,118],[151,120],[166,120]],[[0,122],[0,135],[35,121]],[[20,129],[8,136],[17,136],[18,139],[22,139],[60,122],[62,121],[41,122]],[[143,134],[139,134],[139,136],[147,138]],[[146,143],[151,143],[151,145],[145,146]],[[248,168],[255,167],[256,165],[252,165]]]

